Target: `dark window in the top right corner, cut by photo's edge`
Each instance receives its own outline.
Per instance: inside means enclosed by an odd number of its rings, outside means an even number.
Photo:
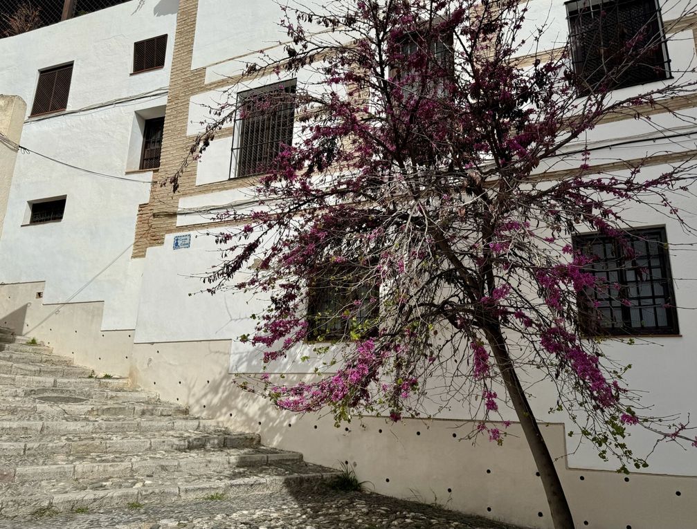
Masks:
[[[652,54],[644,54],[642,62],[646,61],[645,64],[636,64],[632,68],[625,69],[618,79],[607,86],[607,89],[617,90],[671,79],[671,58],[666,45],[659,0],[569,0],[565,2],[565,6],[572,69],[576,75],[576,91],[579,97],[590,95],[603,85],[606,79],[605,65],[612,70],[621,64],[619,61],[623,60],[625,54],[610,54],[604,57],[604,50],[617,47],[617,42],[612,40],[613,37],[621,42],[622,38],[628,40],[638,33],[638,29],[630,26],[629,31],[634,31],[633,34],[620,34],[623,29],[626,29],[622,24],[621,16],[629,16],[627,13],[636,15],[631,10],[643,11],[641,27],[648,28],[648,40],[656,41],[652,46],[655,49]],[[622,12],[621,9],[626,10],[627,13]],[[612,24],[613,17],[615,17],[615,24]],[[607,21],[606,25],[602,24],[603,20]],[[599,44],[606,39],[610,42],[607,42],[605,47],[601,47]],[[588,41],[592,41],[594,45],[597,43],[598,46],[590,49]],[[591,70],[585,72],[589,63]]]

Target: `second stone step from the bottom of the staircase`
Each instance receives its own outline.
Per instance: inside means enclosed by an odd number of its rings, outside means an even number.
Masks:
[[[67,459],[67,461],[61,461]],[[151,452],[45,457],[15,457],[0,464],[3,483],[45,480],[104,480],[112,477],[155,477],[164,473],[226,471],[230,467],[261,466],[302,461],[302,454],[269,448]]]

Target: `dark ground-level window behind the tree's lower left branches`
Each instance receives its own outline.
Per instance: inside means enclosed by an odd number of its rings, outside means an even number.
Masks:
[[[341,340],[373,335],[379,314],[380,289],[373,278],[353,267],[326,267],[310,285],[307,301],[308,338]]]

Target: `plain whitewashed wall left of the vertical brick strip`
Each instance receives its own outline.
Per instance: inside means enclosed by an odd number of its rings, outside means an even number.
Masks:
[[[66,113],[28,118],[22,145],[93,175],[20,154],[0,239],[0,282],[45,281],[46,303],[105,301],[103,329],[133,329],[142,262],[130,260],[135,218],[152,172],[139,157],[135,113],[167,102],[178,0],[138,1],[0,40],[0,93],[31,112],[39,70],[74,62]],[[164,68],[131,74],[133,44],[167,33]],[[87,110],[86,107],[98,107]],[[136,142],[137,145],[133,145]],[[145,183],[144,183],[145,182]],[[59,223],[22,226],[30,200],[67,196]]]

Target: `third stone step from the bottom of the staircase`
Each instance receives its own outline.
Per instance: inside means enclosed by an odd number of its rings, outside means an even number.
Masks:
[[[258,434],[229,432],[151,432],[87,435],[42,436],[31,441],[0,441],[0,456],[4,461],[11,456],[84,455],[84,454],[140,454],[213,448],[254,448],[259,446]]]

